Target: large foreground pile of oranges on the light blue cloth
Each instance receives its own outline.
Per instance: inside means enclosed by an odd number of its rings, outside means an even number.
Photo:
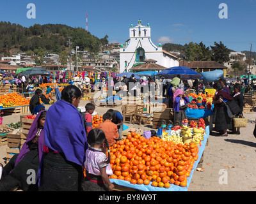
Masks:
[[[109,148],[113,175],[131,184],[169,188],[171,184],[185,187],[187,177],[198,159],[198,145],[163,141],[153,136],[144,138],[135,132]]]

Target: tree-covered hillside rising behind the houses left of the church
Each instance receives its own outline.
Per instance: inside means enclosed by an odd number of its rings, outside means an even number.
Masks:
[[[72,37],[72,48],[99,52],[100,45],[108,43],[108,36],[99,39],[85,29],[73,28],[62,24],[35,24],[23,27],[10,22],[0,22],[0,54],[10,55],[16,52],[35,52],[39,48],[45,52],[61,54],[68,48],[68,36]]]

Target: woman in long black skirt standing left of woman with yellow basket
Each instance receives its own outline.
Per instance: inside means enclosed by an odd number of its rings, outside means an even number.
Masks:
[[[222,84],[217,83],[214,88],[218,92],[212,100],[212,103],[216,106],[215,131],[219,132],[220,136],[228,136],[227,129],[232,129],[232,119],[228,116],[224,102],[234,100],[234,98],[223,89]]]

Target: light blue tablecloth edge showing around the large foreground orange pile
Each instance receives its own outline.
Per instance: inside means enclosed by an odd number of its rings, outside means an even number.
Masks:
[[[199,146],[198,159],[197,159],[197,161],[195,161],[195,163],[193,165],[193,169],[191,170],[191,173],[190,173],[189,177],[187,178],[188,181],[187,181],[186,187],[180,187],[180,186],[176,186],[175,184],[171,184],[171,187],[166,189],[164,187],[153,187],[153,186],[151,186],[152,182],[150,182],[150,184],[148,186],[145,186],[143,184],[141,184],[141,185],[131,184],[130,182],[127,182],[126,180],[119,180],[119,179],[109,179],[109,180],[114,185],[118,184],[120,186],[131,187],[132,189],[138,189],[141,191],[188,191],[188,187],[191,182],[193,173],[194,173],[194,171],[202,157],[202,154],[204,152],[207,139],[209,138],[209,133],[210,133],[209,126],[206,126],[204,140],[202,141],[201,146]]]

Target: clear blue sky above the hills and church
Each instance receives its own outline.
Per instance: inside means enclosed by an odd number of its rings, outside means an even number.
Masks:
[[[29,3],[35,4],[35,18],[27,17]],[[24,27],[65,24],[85,29],[87,12],[88,31],[97,38],[108,35],[109,43],[125,43],[130,25],[141,19],[150,25],[155,45],[202,41],[208,47],[222,41],[241,52],[250,51],[252,43],[256,52],[255,9],[256,0],[1,0],[0,20]]]

